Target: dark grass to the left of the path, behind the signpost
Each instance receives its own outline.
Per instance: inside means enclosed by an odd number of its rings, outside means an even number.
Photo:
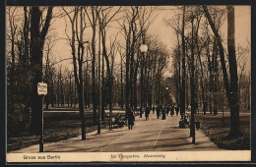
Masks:
[[[94,125],[93,113],[86,114],[86,132],[92,132],[97,129]],[[114,117],[114,115],[112,116]],[[105,115],[101,127],[108,126],[109,117]],[[54,142],[63,139],[70,139],[81,136],[81,118],[78,112],[59,112],[44,114],[44,142]],[[7,139],[7,151],[17,150],[23,147],[39,143],[39,136],[30,136],[25,132],[17,137]]]

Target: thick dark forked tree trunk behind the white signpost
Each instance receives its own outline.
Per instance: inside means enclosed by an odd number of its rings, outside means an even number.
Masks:
[[[52,7],[48,7],[45,24],[40,31],[42,11],[32,7],[31,38],[32,38],[32,124],[31,135],[40,134],[42,96],[37,95],[37,83],[42,82],[42,56],[44,39],[50,26]]]

